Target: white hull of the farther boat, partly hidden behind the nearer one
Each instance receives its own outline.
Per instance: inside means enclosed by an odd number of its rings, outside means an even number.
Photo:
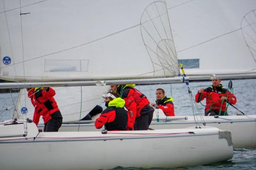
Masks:
[[[180,129],[196,125],[193,116],[187,116],[187,120],[182,116],[167,117],[166,119],[166,117],[159,113],[159,117],[160,121],[157,122],[156,115],[154,115],[149,126],[151,129]],[[204,116],[203,118],[207,126],[231,131],[234,148],[256,147],[256,115],[220,116],[219,118]],[[78,131],[78,128],[79,131],[98,131],[93,121],[87,121],[92,123],[84,122],[86,121],[81,121],[81,124],[62,124],[59,131]],[[201,122],[200,127],[202,126]],[[43,128],[43,125],[39,125],[39,128]]]

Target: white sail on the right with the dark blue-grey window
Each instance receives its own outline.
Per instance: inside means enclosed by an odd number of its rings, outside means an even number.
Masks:
[[[255,56],[253,60],[251,53],[254,51],[255,55],[255,11],[248,14],[255,10],[256,1],[183,2],[177,6],[172,6],[172,1],[166,4],[179,59],[198,60],[196,67],[187,66],[187,75],[256,75]],[[251,51],[247,48],[244,30],[252,37],[254,49]]]

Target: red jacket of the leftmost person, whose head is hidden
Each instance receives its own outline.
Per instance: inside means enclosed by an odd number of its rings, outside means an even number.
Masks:
[[[52,118],[50,115],[59,110],[53,98],[55,91],[50,87],[47,91],[43,89],[34,91],[35,88],[28,91],[28,97],[31,98],[31,103],[35,107],[33,122],[38,125],[40,116],[43,116],[44,124],[46,124]]]

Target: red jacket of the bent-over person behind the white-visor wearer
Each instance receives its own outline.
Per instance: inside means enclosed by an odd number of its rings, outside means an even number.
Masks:
[[[130,85],[124,86],[122,98],[125,100],[125,107],[132,111],[132,124],[135,123],[135,118],[140,117],[140,110],[149,104],[147,97],[137,89]]]

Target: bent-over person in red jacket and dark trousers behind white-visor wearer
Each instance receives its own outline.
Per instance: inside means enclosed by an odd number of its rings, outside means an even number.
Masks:
[[[134,87],[135,84],[110,86],[112,91],[119,93],[120,97],[125,100],[125,107],[130,112],[134,130],[148,130],[154,108],[149,105],[147,97]]]

